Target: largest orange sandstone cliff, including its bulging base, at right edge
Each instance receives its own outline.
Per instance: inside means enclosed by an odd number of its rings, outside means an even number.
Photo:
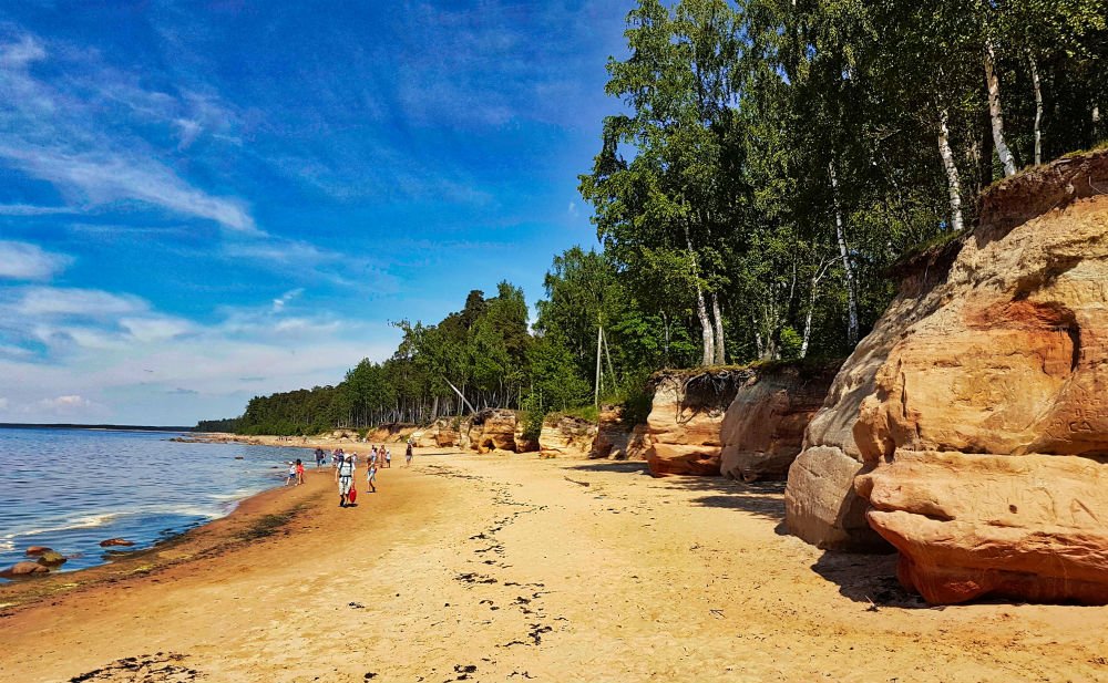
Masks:
[[[1012,178],[916,268],[809,426],[790,529],[864,544],[860,495],[932,602],[1108,602],[1108,197],[1094,186],[1108,154]]]

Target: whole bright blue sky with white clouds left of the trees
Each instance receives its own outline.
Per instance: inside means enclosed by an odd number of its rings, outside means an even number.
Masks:
[[[542,296],[633,0],[0,7],[0,422],[191,424]]]

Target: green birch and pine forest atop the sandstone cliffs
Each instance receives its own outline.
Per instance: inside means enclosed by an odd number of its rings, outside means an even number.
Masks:
[[[361,431],[469,403],[524,408],[537,436],[546,415],[591,414],[597,389],[640,422],[661,368],[845,355],[899,267],[960,237],[958,203],[973,224],[1001,168],[986,45],[1020,163],[1108,141],[1106,0],[639,0],[625,37],[618,113],[578,178],[601,250],[554,257],[533,333],[500,282],[437,324],[397,322],[396,353],[337,386],[198,427]]]

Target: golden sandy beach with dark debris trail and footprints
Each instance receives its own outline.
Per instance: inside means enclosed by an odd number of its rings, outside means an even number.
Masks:
[[[1108,680],[1108,609],[927,608],[783,535],[780,485],[421,453],[340,509],[307,479],[0,587],[0,680]]]

